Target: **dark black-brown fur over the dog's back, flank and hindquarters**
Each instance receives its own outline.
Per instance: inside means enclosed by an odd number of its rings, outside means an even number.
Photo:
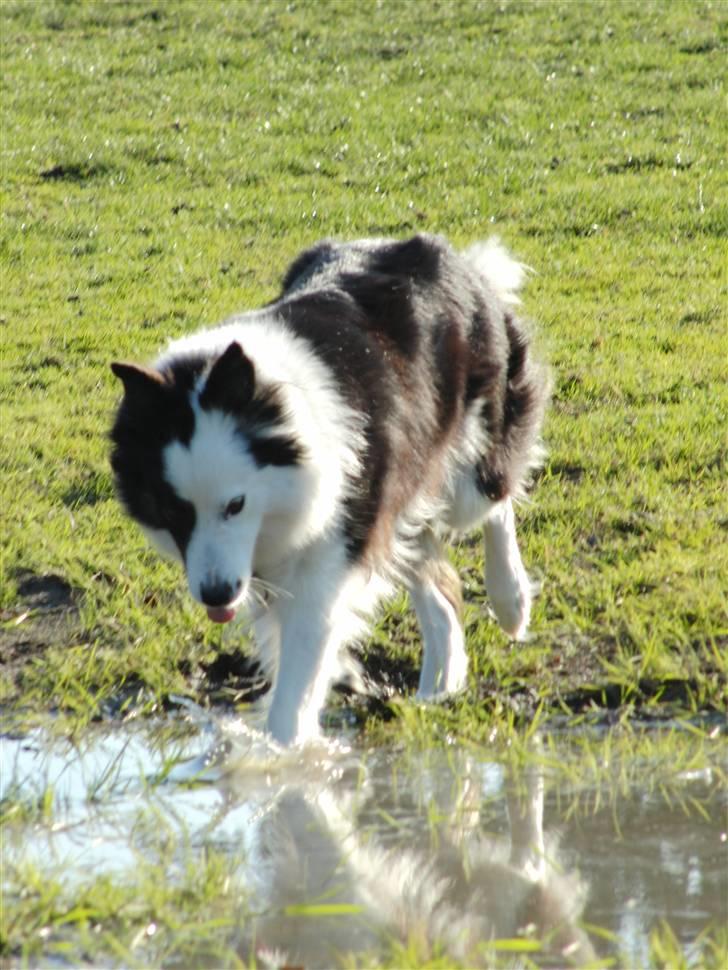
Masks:
[[[490,447],[476,484],[493,500],[517,487],[545,384],[515,318],[444,240],[319,243],[291,265],[270,310],[310,342],[366,415],[364,471],[347,507],[353,558],[383,516],[396,521],[413,488],[429,481],[436,493],[433,455],[478,399]]]

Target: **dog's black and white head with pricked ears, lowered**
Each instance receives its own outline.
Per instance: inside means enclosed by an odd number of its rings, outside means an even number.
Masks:
[[[280,389],[256,380],[238,343],[212,360],[111,367],[124,385],[111,432],[121,500],[184,563],[210,619],[226,622],[246,598],[261,525],[285,501],[272,472],[302,458]]]

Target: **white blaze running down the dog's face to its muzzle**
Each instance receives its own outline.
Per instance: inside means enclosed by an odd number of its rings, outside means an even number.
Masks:
[[[261,472],[247,453],[234,420],[219,411],[195,408],[189,446],[174,441],[163,452],[164,476],[180,498],[195,509],[195,526],[185,551],[192,596],[204,603],[203,590],[231,591],[231,603],[247,593],[253,551],[266,511]],[[236,514],[230,503],[245,497]],[[229,605],[229,604],[228,604]]]

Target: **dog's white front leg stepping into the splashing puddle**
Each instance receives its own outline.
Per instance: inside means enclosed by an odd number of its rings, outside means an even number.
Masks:
[[[281,604],[278,676],[268,710],[268,731],[280,744],[320,734],[319,715],[339,670],[339,651],[358,632],[360,586],[341,549],[319,548],[297,564],[291,599]]]

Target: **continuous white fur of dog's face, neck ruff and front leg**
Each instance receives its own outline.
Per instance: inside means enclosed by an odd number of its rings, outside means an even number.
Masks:
[[[195,507],[186,553],[190,592],[203,603],[203,586],[227,582],[239,589],[229,605],[250,605],[258,614],[256,640],[275,681],[268,730],[291,744],[319,733],[326,693],[344,666],[342,648],[364,631],[364,617],[389,586],[347,563],[339,519],[347,476],[358,469],[360,419],[302,341],[246,317],[173,343],[156,366],[185,354],[221,353],[236,340],[258,378],[282,389],[308,458],[297,466],[259,468],[235,440],[233,419],[194,402],[192,439],[166,446],[164,473]],[[240,494],[243,510],[226,519],[227,504]],[[146,531],[161,551],[172,551],[167,533]],[[283,591],[265,610],[252,602],[254,573]]]

